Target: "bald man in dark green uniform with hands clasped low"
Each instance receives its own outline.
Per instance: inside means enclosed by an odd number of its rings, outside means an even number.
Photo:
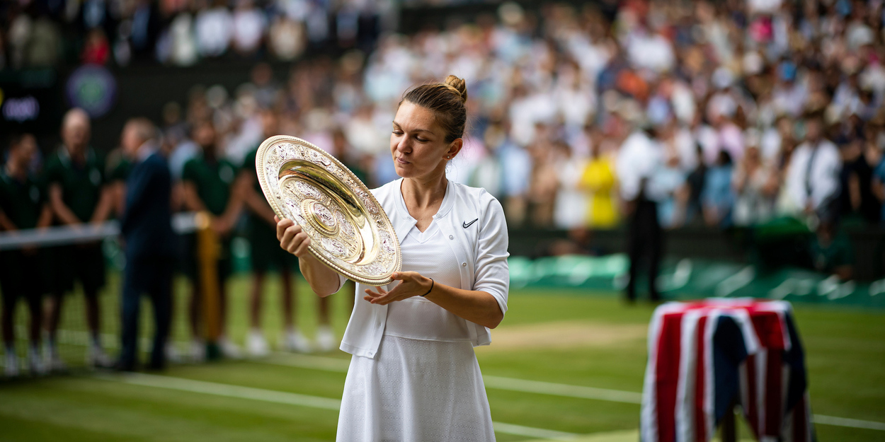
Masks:
[[[89,116],[72,109],[62,122],[62,147],[46,163],[49,202],[56,224],[72,227],[100,225],[112,210],[112,194],[105,186],[104,162],[89,147]],[[101,241],[63,246],[52,250],[55,284],[47,311],[47,347],[52,370],[64,370],[58,355],[56,334],[64,293],[73,290],[79,280],[86,295],[86,322],[90,342],[86,362],[89,366],[107,367],[111,360],[101,347],[101,312],[98,292],[104,287],[105,269]]]

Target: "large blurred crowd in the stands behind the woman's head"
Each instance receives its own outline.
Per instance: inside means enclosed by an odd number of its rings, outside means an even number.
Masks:
[[[381,38],[364,56],[258,65],[228,95],[196,88],[166,125],[212,118],[235,163],[281,132],[334,151],[379,186],[399,91],[455,72],[471,130],[450,177],[486,187],[512,225],[617,225],[619,161],[636,128],[657,158],[646,186],[661,225],[758,225],[774,217],[877,224],[885,198],[885,45],[877,2],[627,2],[613,10],[504,4],[497,18]],[[181,164],[181,161],[178,162]],[[623,190],[623,189],[621,189]]]

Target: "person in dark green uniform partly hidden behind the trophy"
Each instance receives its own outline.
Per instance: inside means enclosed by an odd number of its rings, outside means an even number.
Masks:
[[[261,111],[261,126],[265,138],[280,133],[279,118],[273,110]],[[261,330],[261,307],[264,298],[265,276],[273,268],[280,272],[282,283],[281,304],[283,317],[283,335],[281,347],[285,350],[306,353],[311,351],[310,342],[298,330],[295,321],[297,303],[294,301],[295,280],[292,270],[297,268],[297,259],[293,258],[276,240],[276,221],[273,210],[267,203],[255,169],[256,149],[250,151],[242,162],[242,169],[237,178],[237,186],[241,188],[243,202],[248,210],[248,240],[251,246],[252,287],[250,292],[250,326],[246,349],[253,356],[268,354],[269,347]],[[335,348],[335,333],[329,325],[329,302],[327,298],[319,299],[319,329],[317,331],[317,347],[322,351]]]

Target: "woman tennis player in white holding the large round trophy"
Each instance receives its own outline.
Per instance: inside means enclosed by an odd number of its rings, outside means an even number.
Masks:
[[[396,110],[390,154],[402,177],[373,190],[403,251],[403,271],[386,287],[357,285],[341,349],[353,354],[338,417],[339,441],[495,440],[473,347],[507,311],[504,210],[481,188],[446,179],[464,146],[464,80],[412,88]],[[344,277],[307,251],[289,219],[282,248],[298,256],[319,296]]]

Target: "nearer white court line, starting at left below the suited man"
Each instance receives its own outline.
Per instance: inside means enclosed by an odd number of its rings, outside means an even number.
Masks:
[[[196,392],[203,394],[212,394],[215,396],[224,396],[227,398],[261,400],[278,404],[296,405],[299,407],[309,408],[322,408],[334,411],[338,411],[338,409],[341,408],[341,400],[331,398],[308,396],[306,394],[297,394],[294,392],[276,392],[273,390],[245,387],[240,385],[196,381],[193,379],[185,379],[182,377],[148,375],[144,373],[94,375],[93,377],[103,380],[122,382],[128,385],[165,388],[166,390],[176,390],[179,392]],[[580,436],[578,434],[567,433],[565,431],[554,431],[545,430],[542,428],[525,427],[522,425],[514,425],[512,423],[493,422],[492,424],[495,427],[495,431],[505,434],[513,434],[516,436],[558,440],[569,440]]]

